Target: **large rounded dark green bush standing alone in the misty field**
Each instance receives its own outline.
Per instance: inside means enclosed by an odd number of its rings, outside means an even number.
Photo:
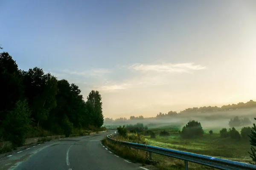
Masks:
[[[181,130],[181,137],[182,138],[194,138],[198,136],[203,136],[204,130],[201,126],[200,122],[195,120],[189,121],[186,126],[183,126]]]

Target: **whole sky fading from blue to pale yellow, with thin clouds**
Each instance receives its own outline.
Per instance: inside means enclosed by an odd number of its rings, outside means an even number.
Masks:
[[[255,0],[0,0],[0,44],[105,117],[256,100]]]

